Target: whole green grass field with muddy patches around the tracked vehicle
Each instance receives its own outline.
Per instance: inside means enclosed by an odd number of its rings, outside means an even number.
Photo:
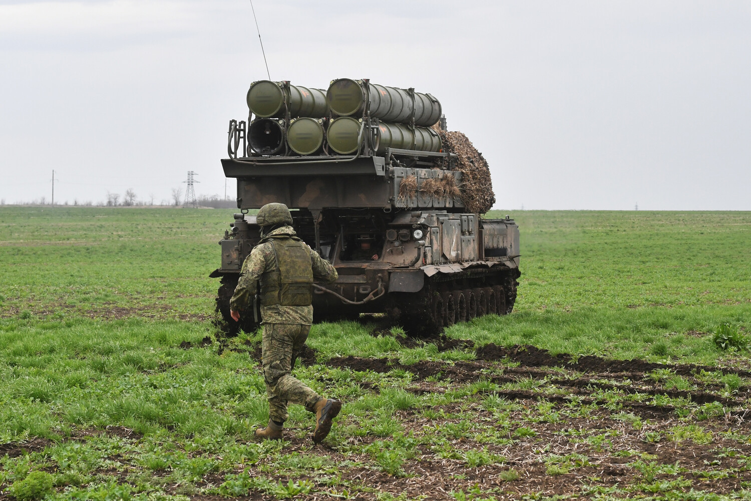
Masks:
[[[314,446],[216,340],[232,212],[0,207],[0,497],[751,499],[751,213],[512,213],[511,315],[313,326]]]

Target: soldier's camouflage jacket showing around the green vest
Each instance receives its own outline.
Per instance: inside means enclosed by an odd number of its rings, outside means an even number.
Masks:
[[[294,235],[294,229],[291,226],[282,226],[276,228],[269,235],[287,234]],[[325,259],[318,255],[313,249],[308,247],[310,252],[310,263],[313,268],[313,278],[322,282],[333,282],[339,276],[336,269]],[[252,315],[250,306],[253,297],[258,293],[258,280],[261,275],[268,271],[276,270],[276,256],[270,242],[261,243],[253,247],[250,255],[243,263],[243,270],[240,272],[240,280],[237,282],[234,295],[230,300],[230,307],[238,312],[244,312],[245,315]],[[282,306],[279,304],[271,306],[261,305],[261,318],[264,324],[306,324],[313,323],[312,306]]]

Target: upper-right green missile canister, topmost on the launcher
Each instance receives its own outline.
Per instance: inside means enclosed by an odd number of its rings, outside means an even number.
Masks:
[[[326,99],[333,113],[341,116],[367,110],[369,116],[385,122],[410,123],[414,113],[415,125],[423,127],[430,127],[441,117],[441,103],[430,94],[366,84],[364,80],[333,80]]]

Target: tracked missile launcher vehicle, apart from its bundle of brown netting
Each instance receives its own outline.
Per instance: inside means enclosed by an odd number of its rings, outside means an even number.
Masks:
[[[463,172],[436,128],[439,101],[414,89],[333,80],[327,90],[260,80],[247,122],[231,120],[226,177],[237,178],[231,229],[219,242],[216,309],[228,329],[240,268],[261,239],[250,210],[290,209],[294,229],[330,261],[339,279],[314,284],[321,319],[385,312],[411,333],[511,312],[517,294],[519,228],[468,213]]]

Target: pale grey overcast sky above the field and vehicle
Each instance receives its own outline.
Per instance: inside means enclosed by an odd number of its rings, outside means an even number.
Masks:
[[[751,2],[253,5],[273,80],[435,95],[496,208],[751,210]],[[0,200],[222,198],[266,78],[249,0],[0,0]]]

